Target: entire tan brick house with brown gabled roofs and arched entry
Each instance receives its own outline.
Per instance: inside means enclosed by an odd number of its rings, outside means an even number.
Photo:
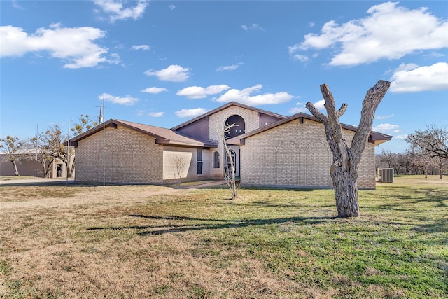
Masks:
[[[286,117],[236,102],[172,129],[108,120],[70,140],[76,148],[76,181],[103,181],[103,152],[104,178],[110,183],[222,179],[227,158],[218,132],[227,123],[237,124],[227,137],[241,184],[332,186],[332,156],[321,123],[304,113]],[[356,127],[343,128],[351,139]],[[370,133],[360,188],[374,188],[374,146],[390,139]]]

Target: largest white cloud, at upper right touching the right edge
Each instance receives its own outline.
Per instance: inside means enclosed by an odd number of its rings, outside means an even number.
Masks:
[[[385,2],[370,7],[367,14],[341,25],[334,20],[325,23],[320,35],[307,34],[302,43],[289,47],[290,55],[330,48],[336,50],[330,65],[354,66],[448,47],[448,21],[428,8],[410,10],[398,2]]]

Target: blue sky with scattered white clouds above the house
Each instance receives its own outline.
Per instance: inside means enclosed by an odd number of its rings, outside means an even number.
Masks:
[[[391,81],[373,130],[448,125],[448,1],[0,1],[0,136],[33,137],[81,113],[174,127],[230,101],[358,125]],[[68,130],[68,128],[67,128]]]

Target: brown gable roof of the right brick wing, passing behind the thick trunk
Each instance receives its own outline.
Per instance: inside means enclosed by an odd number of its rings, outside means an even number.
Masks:
[[[320,123],[318,121],[318,119],[315,118],[314,116],[311,116],[309,114],[300,112],[300,113],[294,114],[293,116],[290,116],[288,118],[283,118],[282,120],[279,120],[276,123],[272,123],[271,125],[267,125],[265,127],[260,127],[257,130],[253,130],[253,131],[248,132],[246,134],[241,134],[241,135],[239,135],[237,137],[233,137],[232,139],[228,139],[227,143],[228,144],[233,144],[233,145],[244,144],[244,139],[246,139],[248,137],[251,137],[251,136],[256,135],[256,134],[260,134],[261,132],[265,132],[267,130],[270,130],[273,127],[278,127],[279,125],[283,125],[285,123],[289,123],[290,121],[293,121],[293,120],[296,120],[296,119],[300,119],[300,118],[302,118],[300,120],[300,122],[302,122],[302,120],[305,118],[305,119],[314,120],[314,121]],[[355,127],[353,125],[346,125],[346,124],[342,123],[341,126],[342,126],[343,129],[350,130],[350,131],[353,131],[353,132],[356,132],[356,130],[358,130],[358,127]],[[391,139],[392,139],[391,135],[370,131],[369,140],[368,141],[374,143],[375,145],[379,145],[379,144],[382,144],[382,143],[384,143],[386,141],[389,141]]]

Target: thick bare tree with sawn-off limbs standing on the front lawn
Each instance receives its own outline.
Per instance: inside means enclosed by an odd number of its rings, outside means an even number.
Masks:
[[[328,145],[332,151],[333,163],[330,167],[330,176],[335,189],[337,216],[340,218],[358,217],[358,166],[363,154],[365,144],[372,130],[374,113],[377,106],[391,85],[388,81],[378,81],[365,95],[361,110],[358,129],[347,145],[342,134],[339,118],[344,114],[347,104],[342,104],[339,110],[335,109],[333,98],[328,85],[321,85],[321,92],[325,100],[327,116],[323,115],[311,103],[307,103],[308,110],[325,126]]]

